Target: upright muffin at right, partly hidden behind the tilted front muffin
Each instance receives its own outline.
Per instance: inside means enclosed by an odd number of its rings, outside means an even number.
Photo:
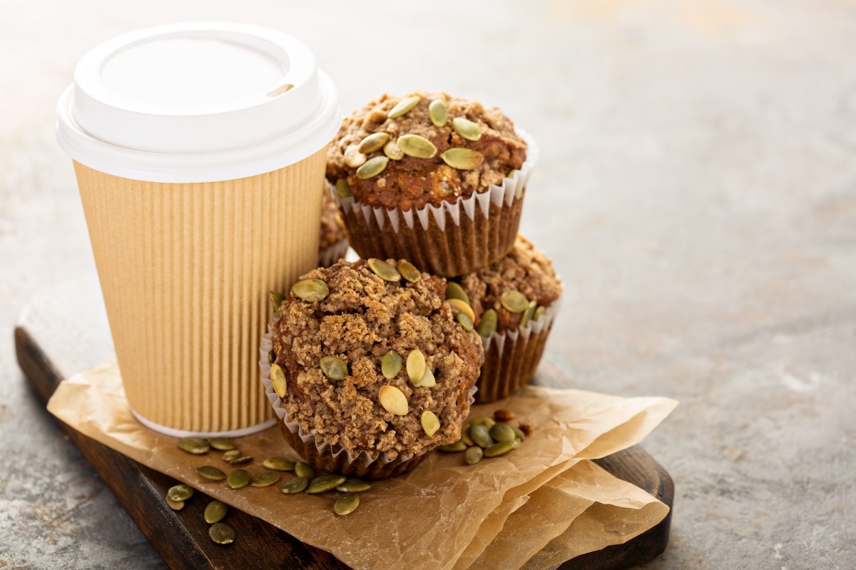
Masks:
[[[558,311],[562,282],[550,258],[519,235],[489,268],[449,282],[450,303],[467,302],[484,341],[479,403],[502,400],[532,381]]]

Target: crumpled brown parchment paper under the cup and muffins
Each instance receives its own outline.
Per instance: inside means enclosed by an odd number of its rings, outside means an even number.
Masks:
[[[506,522],[518,513],[520,517],[515,520],[525,521],[527,516],[532,518],[532,513],[540,513],[550,520],[562,521],[559,529],[562,533],[556,534],[556,529],[550,533],[553,536],[547,546],[552,546],[554,554],[545,557],[544,563],[552,564],[555,558],[561,558],[562,549],[568,548],[561,542],[562,537],[574,529],[570,521],[580,520],[598,504],[621,506],[631,504],[628,501],[633,497],[638,498],[631,496],[629,490],[618,492],[623,489],[621,486],[601,487],[586,484],[585,480],[582,489],[586,492],[582,492],[577,489],[576,469],[572,468],[588,457],[638,443],[676,403],[666,398],[621,398],[581,390],[528,387],[507,400],[473,407],[474,415],[488,415],[497,408],[510,409],[517,415],[513,425],[517,420],[532,425],[532,436],[519,449],[500,458],[482,460],[476,466],[464,465],[461,454],[431,454],[403,477],[372,483],[372,490],[360,496],[360,508],[347,517],[333,513],[335,496],[283,495],[279,488],[291,477],[289,473],[283,474],[280,484],[241,490],[200,478],[196,472],[199,466],[218,466],[225,472],[231,467],[220,459],[218,452],[185,454],[175,447],[174,437],[140,425],[128,411],[115,360],[62,382],[48,409],[86,436],[258,516],[305,543],[328,550],[348,566],[451,569],[479,567],[479,556],[496,556],[488,547],[496,542]],[[605,436],[603,442],[602,436]],[[271,455],[284,454],[297,459],[277,428],[241,437],[237,443],[244,453],[255,458],[252,464],[244,466],[253,473],[263,471],[261,460]],[[597,472],[597,477],[604,481],[615,479],[603,470]],[[633,485],[629,487],[636,489]],[[598,494],[597,489],[604,492]],[[538,495],[541,490],[582,496],[591,503],[579,514],[577,511],[584,504],[579,499],[568,498],[559,503],[561,508],[556,508]],[[527,509],[530,503],[532,508]],[[668,509],[664,505],[663,509],[665,516]],[[635,515],[640,510],[607,509],[610,520],[619,521],[628,529],[657,524],[659,520],[652,518],[639,523]],[[633,514],[633,520],[627,523],[622,519],[624,514]],[[631,537],[629,532],[623,539],[622,534],[615,535],[618,527],[618,522],[603,527],[612,533],[610,540],[623,542]],[[586,544],[597,543],[591,538],[596,534],[592,521],[580,524],[580,529],[587,537]],[[535,545],[544,542],[543,537],[535,536],[537,533],[531,534],[535,542],[526,546],[527,552],[537,551]],[[236,539],[241,539],[240,531]],[[574,543],[574,537],[568,537],[568,541]],[[575,548],[583,547],[575,545]]]

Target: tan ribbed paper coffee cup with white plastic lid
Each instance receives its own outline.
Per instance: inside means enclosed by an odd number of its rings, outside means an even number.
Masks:
[[[272,425],[268,292],[316,266],[342,120],[312,52],[265,27],[146,28],[88,52],[57,116],[134,415],[175,436]]]

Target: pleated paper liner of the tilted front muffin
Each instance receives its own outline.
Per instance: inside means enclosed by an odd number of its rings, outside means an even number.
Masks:
[[[273,322],[276,323],[278,320],[279,316],[275,314]],[[371,454],[367,451],[361,451],[354,455],[342,445],[333,444],[316,437],[315,434],[306,433],[300,427],[299,422],[288,419],[288,413],[280,405],[282,400],[273,389],[273,384],[270,383],[268,354],[273,350],[273,333],[270,330],[272,330],[272,325],[268,326],[268,332],[262,336],[262,346],[259,348],[262,384],[265,387],[265,395],[270,401],[270,405],[273,406],[282,435],[285,436],[288,445],[294,448],[294,451],[300,454],[306,463],[325,472],[341,473],[359,478],[385,479],[411,471],[434,452],[436,447],[426,448],[420,454],[398,454],[394,459],[390,459],[386,452]],[[470,389],[471,406],[475,401],[477,389],[475,385]]]

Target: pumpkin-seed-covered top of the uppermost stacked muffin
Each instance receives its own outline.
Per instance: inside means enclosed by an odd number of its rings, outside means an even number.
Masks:
[[[500,184],[526,161],[526,142],[498,109],[443,92],[373,100],[342,122],[327,179],[360,202],[421,209]],[[342,192],[340,192],[342,195]]]

